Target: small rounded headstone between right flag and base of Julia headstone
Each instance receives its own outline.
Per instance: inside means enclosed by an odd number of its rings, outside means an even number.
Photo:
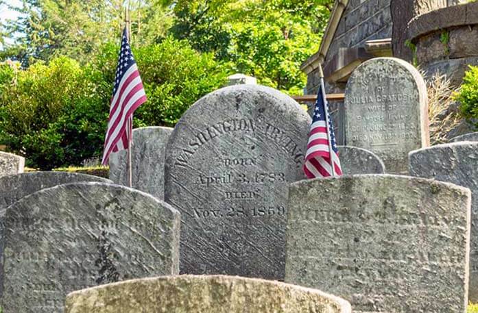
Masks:
[[[385,165],[372,151],[350,146],[339,146],[338,149],[344,175],[385,173]]]

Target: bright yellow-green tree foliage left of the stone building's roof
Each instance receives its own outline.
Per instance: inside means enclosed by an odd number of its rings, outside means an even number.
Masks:
[[[171,32],[214,52],[232,71],[300,94],[300,64],[320,45],[331,0],[178,0]]]

